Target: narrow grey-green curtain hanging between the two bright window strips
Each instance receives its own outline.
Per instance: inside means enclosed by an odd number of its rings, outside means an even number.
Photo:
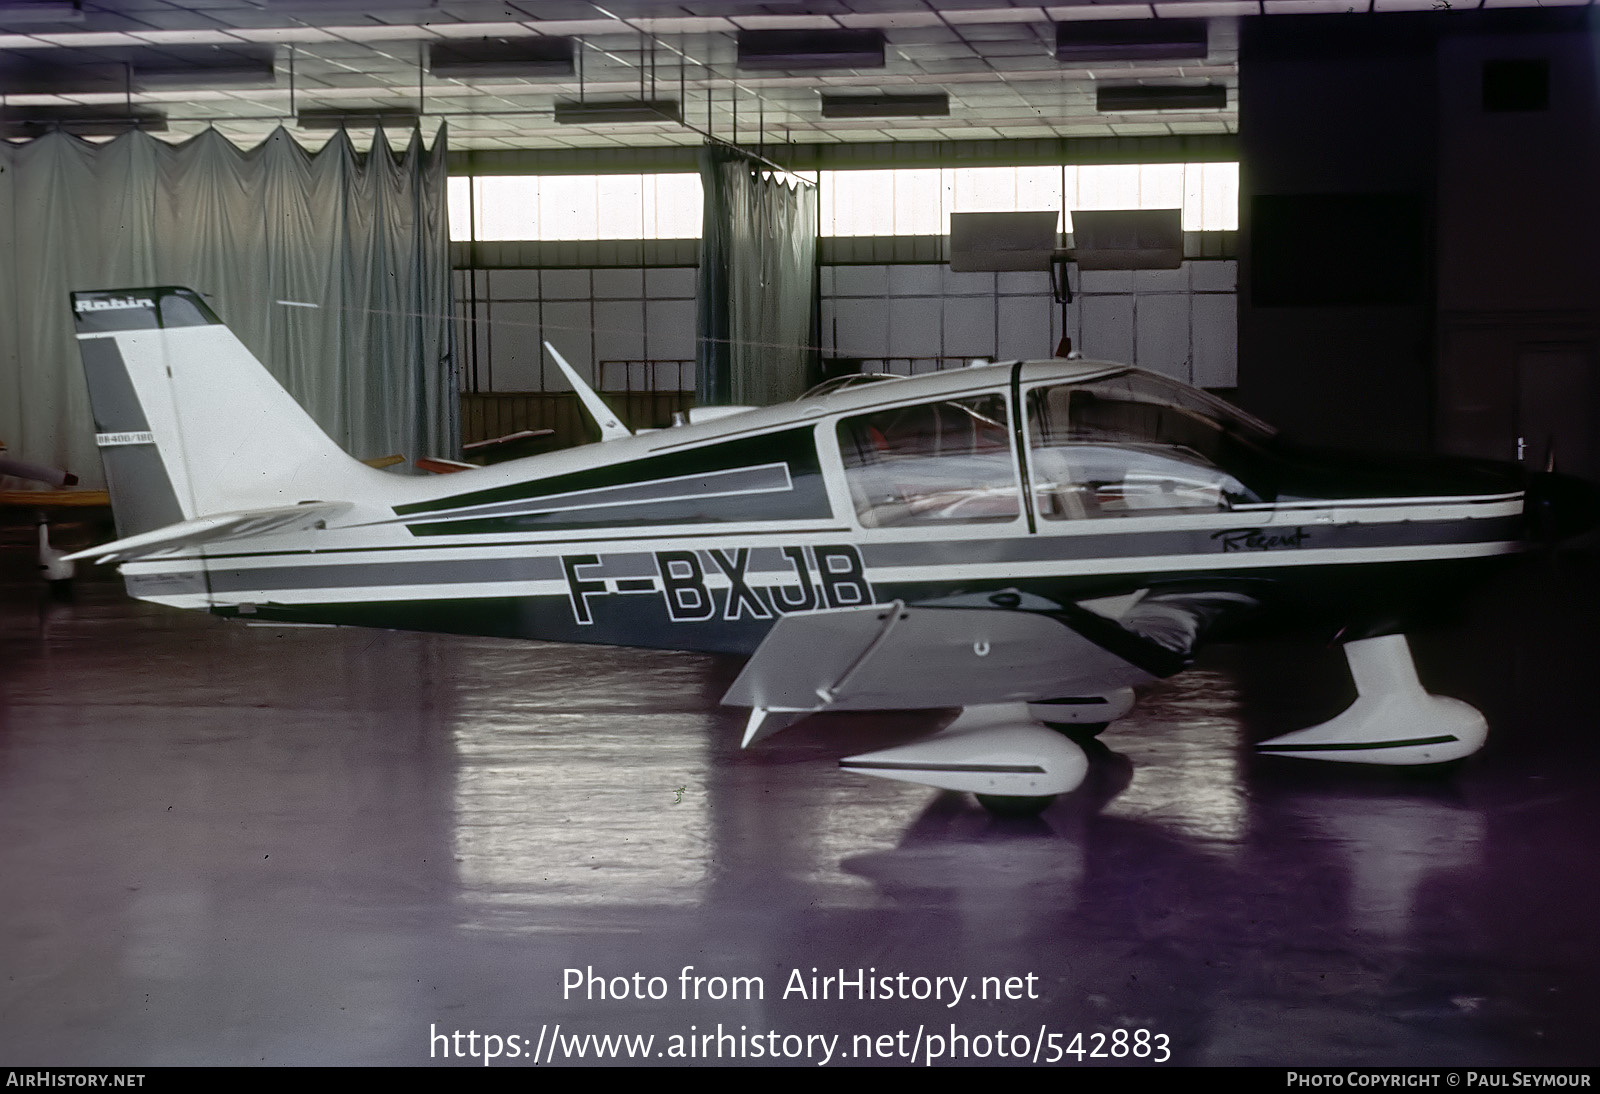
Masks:
[[[694,392],[765,406],[816,379],[816,187],[738,149],[701,149]]]

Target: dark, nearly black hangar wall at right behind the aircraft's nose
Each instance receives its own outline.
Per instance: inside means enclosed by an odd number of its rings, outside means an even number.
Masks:
[[[1600,477],[1594,34],[1587,8],[1245,24],[1245,406]]]

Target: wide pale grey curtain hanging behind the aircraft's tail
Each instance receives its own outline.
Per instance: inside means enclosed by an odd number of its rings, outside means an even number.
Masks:
[[[67,294],[186,285],[352,456],[454,456],[445,131],[0,142],[0,440],[101,481]],[[288,301],[288,302],[285,302]]]

